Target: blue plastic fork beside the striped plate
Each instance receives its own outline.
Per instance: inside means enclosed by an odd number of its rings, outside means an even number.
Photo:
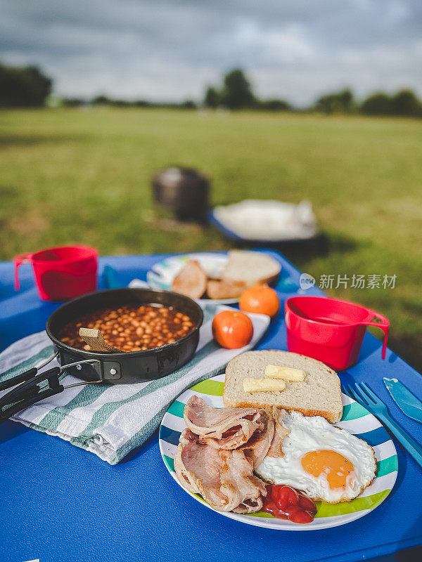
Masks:
[[[387,406],[371,391],[371,388],[369,388],[367,384],[362,382],[355,383],[354,385],[345,385],[343,386],[343,391],[347,396],[354,398],[354,400],[359,402],[360,405],[366,408],[366,410],[369,410],[371,414],[388,427],[399,443],[402,443],[407,452],[422,466],[422,446],[414,440],[407,431],[404,431],[404,429],[397,424],[397,421],[392,419],[388,413]]]

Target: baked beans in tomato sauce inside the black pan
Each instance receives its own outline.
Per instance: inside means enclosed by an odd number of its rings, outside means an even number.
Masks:
[[[146,351],[172,344],[195,327],[188,315],[172,306],[154,303],[119,308],[101,308],[66,324],[58,334],[63,344],[89,350],[79,336],[79,328],[100,329],[104,339],[120,351]]]

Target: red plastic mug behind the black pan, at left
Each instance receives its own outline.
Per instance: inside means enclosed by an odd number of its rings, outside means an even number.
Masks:
[[[98,251],[84,246],[65,246],[16,256],[15,289],[19,267],[32,263],[35,285],[43,301],[66,301],[96,290]]]

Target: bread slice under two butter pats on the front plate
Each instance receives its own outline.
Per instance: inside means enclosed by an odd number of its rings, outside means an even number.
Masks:
[[[243,379],[262,379],[267,365],[293,367],[305,371],[305,381],[286,381],[283,391],[243,391]],[[305,416],[322,416],[332,424],[343,414],[340,379],[321,361],[288,351],[247,351],[232,359],[226,367],[224,406],[280,407],[297,410]]]

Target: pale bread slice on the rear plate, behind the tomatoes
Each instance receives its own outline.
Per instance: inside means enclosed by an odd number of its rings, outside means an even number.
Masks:
[[[244,281],[249,286],[271,284],[277,280],[280,271],[280,263],[261,251],[231,250],[222,279]]]

